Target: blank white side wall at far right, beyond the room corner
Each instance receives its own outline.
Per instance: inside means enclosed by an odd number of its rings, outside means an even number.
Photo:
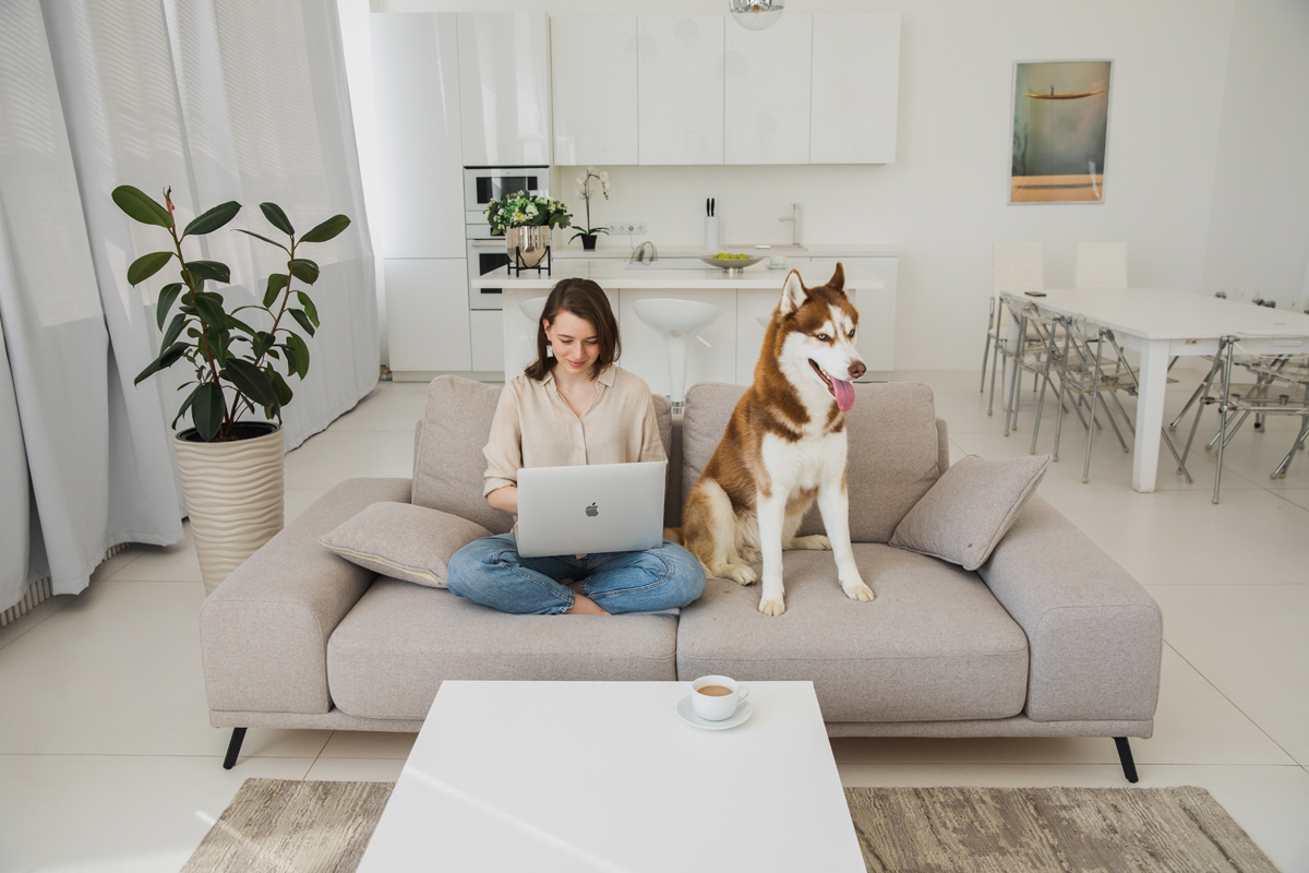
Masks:
[[[1309,3],[1238,0],[1203,289],[1309,293]],[[1284,304],[1283,304],[1284,305]]]

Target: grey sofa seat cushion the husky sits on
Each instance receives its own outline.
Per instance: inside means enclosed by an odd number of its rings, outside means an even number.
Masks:
[[[842,593],[827,551],[783,554],[778,618],[759,614],[758,584],[709,580],[678,622],[678,678],[810,679],[829,722],[1022,711],[1028,639],[977,573],[877,543],[855,543],[855,559],[872,603]]]

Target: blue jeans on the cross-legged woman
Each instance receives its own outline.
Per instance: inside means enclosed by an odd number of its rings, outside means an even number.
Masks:
[[[641,552],[524,558],[508,533],[473,541],[446,571],[446,586],[459,597],[520,615],[572,609],[577,596],[562,580],[581,582],[583,594],[618,615],[687,606],[704,592],[704,567],[669,539]]]

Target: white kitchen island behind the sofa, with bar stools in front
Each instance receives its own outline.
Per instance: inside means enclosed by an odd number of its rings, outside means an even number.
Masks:
[[[868,374],[878,378],[894,368],[895,268],[897,258],[843,259],[846,292],[859,309],[859,351]],[[734,382],[747,385],[763,346],[764,325],[778,305],[781,285],[791,268],[800,272],[806,287],[831,279],[836,259],[792,259],[785,270],[766,263],[729,274],[716,267],[689,268],[681,259],[656,260],[628,267],[615,259],[554,262],[552,275],[524,271],[505,276],[496,271],[473,280],[474,288],[501,288],[504,293],[505,378],[513,378],[535,360],[535,322],[524,315],[521,305],[550,293],[560,279],[596,281],[609,294],[623,338],[619,364],[644,378],[656,394],[668,394],[668,355],[664,338],[644,325],[632,309],[637,300],[665,297],[699,300],[723,309],[712,325],[700,331],[703,343],[691,343],[687,385]]]

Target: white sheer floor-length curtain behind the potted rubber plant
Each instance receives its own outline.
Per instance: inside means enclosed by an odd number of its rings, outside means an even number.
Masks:
[[[118,211],[115,186],[157,199],[171,186],[183,224],[238,200],[229,228],[266,236],[264,200],[300,232],[350,216],[344,234],[306,246],[322,329],[308,380],[292,380],[287,448],[373,387],[348,107],[334,0],[0,1],[0,610],[45,575],[54,593],[80,592],[111,546],[182,535],[168,428],[179,378],[132,385],[157,352],[169,279],[126,280],[165,238]],[[240,305],[279,267],[274,251],[225,228],[188,257],[226,262],[223,292]]]

